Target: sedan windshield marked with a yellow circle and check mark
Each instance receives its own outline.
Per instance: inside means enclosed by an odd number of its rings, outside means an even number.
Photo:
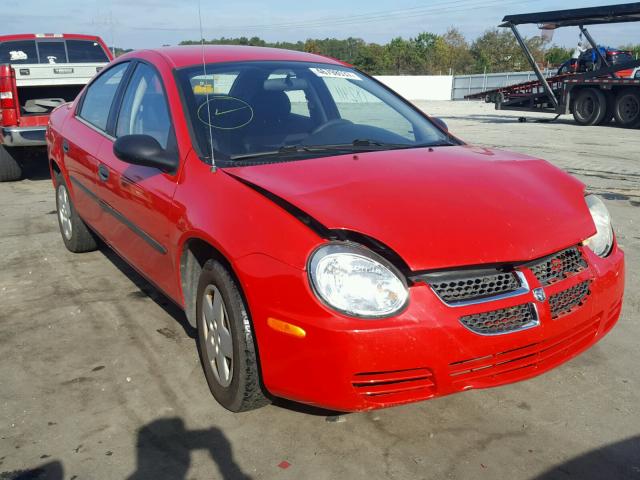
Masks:
[[[360,72],[306,62],[234,62],[182,69],[202,157],[222,166],[353,151],[458,144]]]

